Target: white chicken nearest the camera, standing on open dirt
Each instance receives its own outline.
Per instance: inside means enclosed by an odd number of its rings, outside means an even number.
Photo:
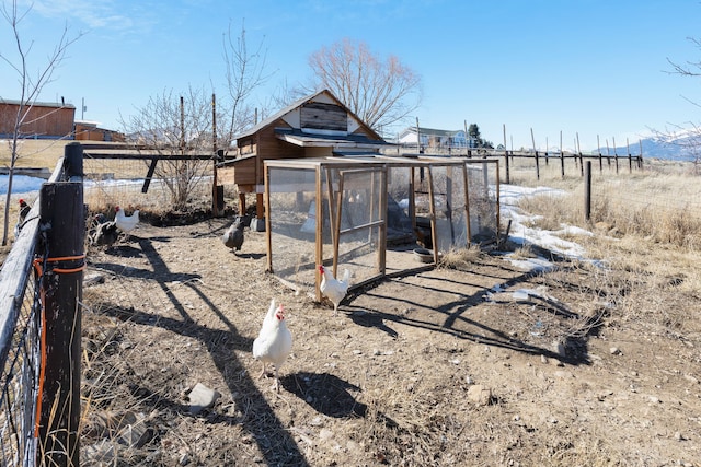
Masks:
[[[292,334],[285,323],[285,307],[275,307],[275,299],[271,300],[271,307],[263,319],[258,337],[253,341],[253,357],[263,362],[263,371],[258,378],[265,375],[267,363],[275,367],[275,384],[273,387],[279,393],[280,381],[278,371],[289,353],[292,351]]]

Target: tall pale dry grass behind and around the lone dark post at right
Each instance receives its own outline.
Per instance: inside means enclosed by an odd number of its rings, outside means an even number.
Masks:
[[[653,162],[657,164],[657,162]],[[590,229],[596,225],[614,236],[633,235],[648,242],[688,250],[701,248],[701,184],[688,166],[670,173],[668,164],[646,166],[632,174],[595,172],[591,183],[591,218],[585,220],[582,178],[561,179],[558,173],[541,174],[541,180],[520,179],[524,185],[545,184],[565,196],[525,199],[520,207],[538,214],[535,225],[558,230],[562,223]],[[552,167],[551,167],[552,168]],[[548,176],[550,175],[550,176]],[[516,177],[519,180],[518,177]]]

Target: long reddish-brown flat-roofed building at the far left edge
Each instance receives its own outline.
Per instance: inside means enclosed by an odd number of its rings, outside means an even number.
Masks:
[[[0,138],[14,135],[20,101],[0,100]],[[21,138],[71,138],[76,107],[72,104],[35,102],[20,127]]]

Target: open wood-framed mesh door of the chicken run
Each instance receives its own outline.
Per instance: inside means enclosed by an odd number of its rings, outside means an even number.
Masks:
[[[337,190],[331,194],[334,273],[352,270],[353,283],[384,273],[387,171],[338,171]]]

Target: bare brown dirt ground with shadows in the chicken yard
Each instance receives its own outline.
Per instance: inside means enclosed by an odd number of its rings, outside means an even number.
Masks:
[[[356,290],[334,316],[264,272],[264,233],[229,250],[230,222],[89,248],[82,464],[701,466],[683,279],[483,254]],[[251,354],[272,297],[294,336],[279,394]],[[196,413],[198,383],[219,397]]]

